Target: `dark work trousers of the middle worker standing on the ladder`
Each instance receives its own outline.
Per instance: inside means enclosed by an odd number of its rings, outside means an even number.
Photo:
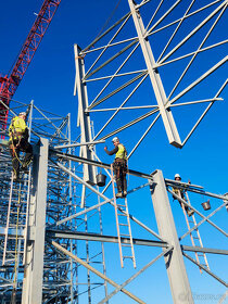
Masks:
[[[118,192],[127,191],[127,162],[122,159],[115,159],[113,163],[113,170],[116,177],[116,186]]]

